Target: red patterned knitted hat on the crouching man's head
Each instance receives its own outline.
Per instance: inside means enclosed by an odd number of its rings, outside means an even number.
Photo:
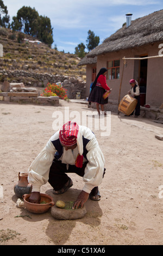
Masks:
[[[59,139],[61,144],[71,147],[77,143],[79,126],[77,123],[68,121],[59,131]]]

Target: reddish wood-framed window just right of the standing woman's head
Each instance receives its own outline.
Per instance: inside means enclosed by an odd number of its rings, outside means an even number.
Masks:
[[[107,79],[114,80],[120,78],[120,59],[118,60],[109,60],[107,62]]]

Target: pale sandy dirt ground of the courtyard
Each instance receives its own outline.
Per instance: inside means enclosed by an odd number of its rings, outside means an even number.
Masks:
[[[37,215],[17,207],[18,172],[27,172],[55,132],[55,114],[64,116],[65,109],[70,120],[73,111],[81,117],[95,111],[67,101],[56,107],[0,102],[0,245],[163,245],[163,141],[155,138],[163,131],[152,120],[111,113],[110,135],[110,123],[105,136],[93,127],[106,174],[99,186],[101,200],[87,200],[84,218],[61,221],[52,217],[51,210]],[[79,123],[79,116],[73,120]],[[88,119],[90,126],[87,123]],[[54,202],[76,199],[84,182],[76,174],[70,177],[73,187],[65,194],[55,196],[48,183],[41,192],[50,194]]]

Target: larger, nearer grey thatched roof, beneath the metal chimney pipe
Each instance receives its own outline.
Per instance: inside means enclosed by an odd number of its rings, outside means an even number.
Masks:
[[[123,26],[118,31],[106,38],[101,45],[87,54],[87,60],[105,54],[139,47],[163,40],[163,10],[131,21],[129,27]],[[87,64],[85,62],[85,64]]]

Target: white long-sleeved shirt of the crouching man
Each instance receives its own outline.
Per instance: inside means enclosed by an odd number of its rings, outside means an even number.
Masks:
[[[49,139],[45,148],[36,157],[28,169],[28,182],[33,185],[32,192],[40,192],[40,187],[48,181],[49,169],[51,168],[54,154],[57,149],[54,147],[54,142],[59,139],[59,131]],[[85,142],[83,144],[83,142]],[[104,172],[104,156],[99,148],[96,136],[92,131],[79,125],[77,147],[64,150],[58,160],[62,163],[75,164],[78,153],[82,155],[86,152],[83,162],[87,161],[83,181],[85,185],[83,191],[90,193],[93,187],[99,186],[103,179]],[[83,154],[84,155],[84,154]]]

